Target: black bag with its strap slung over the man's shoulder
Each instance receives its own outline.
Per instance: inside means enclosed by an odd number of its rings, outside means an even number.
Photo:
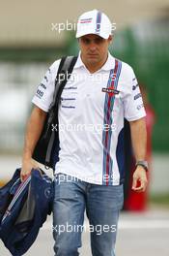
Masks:
[[[77,57],[75,56],[63,57],[61,59],[57,76],[55,79],[53,101],[47,113],[47,116],[43,125],[43,129],[42,129],[41,137],[33,153],[33,158],[35,160],[37,160],[38,162],[42,163],[47,167],[51,167],[52,169],[54,169],[55,163],[58,161],[58,155],[59,155],[59,149],[60,149],[59,134],[58,134],[58,131],[55,131],[52,129],[52,123],[58,124],[58,106],[60,103],[62,91],[69,77],[68,75],[63,76],[62,80],[61,79],[59,80],[59,78],[62,74],[63,75],[69,74],[70,76],[76,60],[77,60]],[[55,156],[55,159],[53,155]]]

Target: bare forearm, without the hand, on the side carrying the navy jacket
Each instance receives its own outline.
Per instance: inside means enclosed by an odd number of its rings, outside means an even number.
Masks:
[[[31,113],[26,128],[22,161],[32,157],[34,148],[42,133],[45,117],[46,112],[42,112],[42,110],[37,107],[35,107]]]

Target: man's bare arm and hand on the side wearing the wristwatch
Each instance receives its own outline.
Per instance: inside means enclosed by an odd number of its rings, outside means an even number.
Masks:
[[[130,121],[132,147],[136,161],[145,160],[147,148],[147,131],[145,118]],[[137,181],[140,185],[137,187]],[[147,186],[146,171],[142,166],[137,166],[133,174],[132,189],[138,192],[145,191]]]

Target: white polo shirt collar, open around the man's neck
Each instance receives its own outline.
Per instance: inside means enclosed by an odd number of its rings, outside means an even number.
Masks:
[[[80,55],[81,55],[81,51],[79,51],[79,53],[78,53],[78,57],[77,57],[77,61],[76,61],[75,65],[74,65],[74,69],[81,68],[81,67],[84,67],[86,69]],[[110,71],[111,69],[114,68],[114,66],[115,66],[115,58],[108,51],[107,60],[99,70]]]

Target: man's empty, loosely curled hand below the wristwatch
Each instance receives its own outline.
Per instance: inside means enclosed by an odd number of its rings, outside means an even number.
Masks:
[[[137,182],[139,185],[137,186]],[[148,183],[146,171],[142,166],[137,166],[132,180],[132,189],[136,192],[144,192]]]

